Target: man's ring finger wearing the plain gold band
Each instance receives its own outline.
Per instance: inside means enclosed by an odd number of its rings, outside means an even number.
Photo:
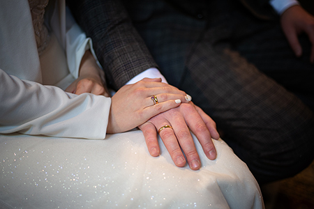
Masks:
[[[160,129],[160,127],[163,127],[163,125],[171,125],[168,121],[163,121],[164,122],[156,120],[152,123],[154,123],[155,127],[158,130]],[[181,151],[181,148],[177,141],[177,137],[174,135],[174,131],[172,130],[172,128],[164,128],[159,132],[159,135],[160,138],[163,140],[163,144],[165,144],[165,147],[167,148],[168,153],[170,154],[174,164],[176,164],[177,167],[184,167],[184,165],[186,164],[186,159]]]

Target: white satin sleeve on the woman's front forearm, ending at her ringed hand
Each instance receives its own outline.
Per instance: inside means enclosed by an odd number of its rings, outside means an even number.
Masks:
[[[104,139],[111,98],[74,95],[0,69],[0,133]]]

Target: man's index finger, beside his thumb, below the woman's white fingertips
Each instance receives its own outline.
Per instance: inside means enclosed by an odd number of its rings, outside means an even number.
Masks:
[[[202,117],[191,104],[187,104],[186,109],[183,112],[188,127],[190,127],[190,130],[192,130],[195,134],[198,141],[200,141],[205,155],[209,158],[209,160],[215,160],[217,156],[216,148],[211,140],[211,134],[207,125],[202,120]]]

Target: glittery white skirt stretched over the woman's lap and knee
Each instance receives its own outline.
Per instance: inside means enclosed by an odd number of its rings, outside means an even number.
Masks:
[[[0,208],[263,208],[246,164],[224,141],[202,168],[151,157],[142,132],[105,140],[0,135]]]

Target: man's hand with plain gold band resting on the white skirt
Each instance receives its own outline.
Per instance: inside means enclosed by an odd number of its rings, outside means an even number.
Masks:
[[[205,155],[210,160],[216,159],[216,148],[211,140],[219,139],[216,123],[193,102],[165,111],[139,126],[144,133],[149,153],[154,157],[160,153],[157,132],[164,125],[171,127],[160,130],[159,135],[177,167],[184,167],[186,160],[190,169],[197,170],[201,167],[190,130],[200,141]]]

